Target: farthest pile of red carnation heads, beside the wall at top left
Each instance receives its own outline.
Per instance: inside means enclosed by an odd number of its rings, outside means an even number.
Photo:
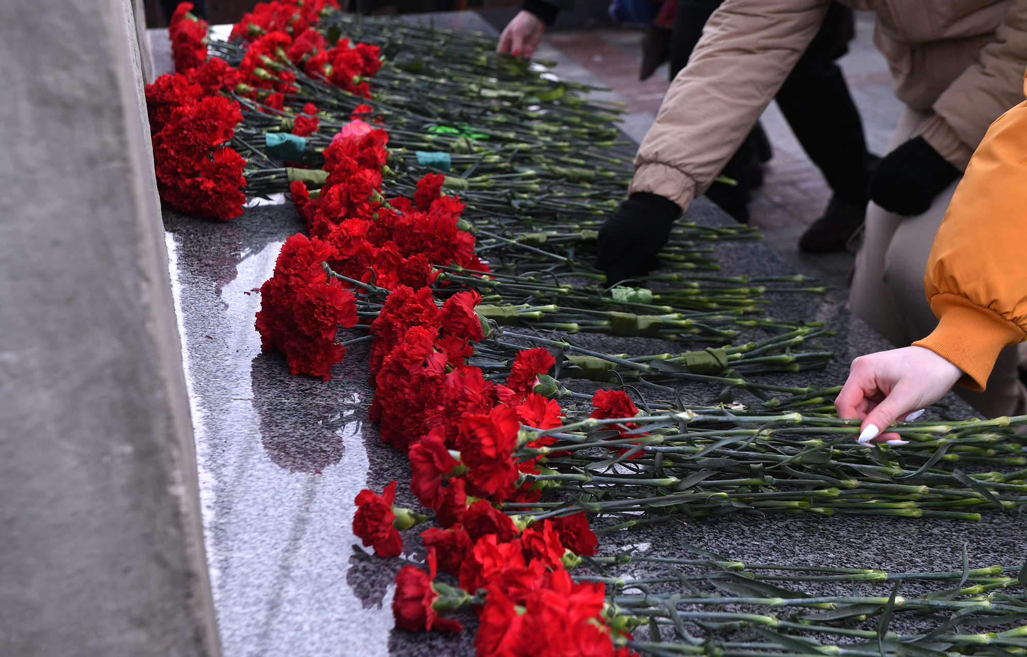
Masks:
[[[297,90],[296,74],[289,70],[295,65],[308,75],[370,98],[368,79],[381,68],[381,53],[377,46],[347,39],[328,47],[310,26],[330,8],[338,9],[335,0],[261,3],[233,28],[232,36],[249,43],[236,69],[219,57],[207,57],[208,26],[191,13],[192,7],[189,2],[179,4],[168,28],[176,73],[146,87],[157,187],[172,209],[227,221],[242,214],[246,164],[229,146],[242,120],[230,94],[280,111],[286,94]],[[307,103],[293,121],[293,133],[306,137],[317,131],[316,114],[317,108]],[[382,163],[383,144],[375,152],[381,154]],[[335,149],[340,157],[343,151]],[[335,163],[338,167],[338,159]],[[340,169],[338,177],[343,175]],[[371,177],[352,187],[371,190],[377,185],[380,172],[377,183]]]

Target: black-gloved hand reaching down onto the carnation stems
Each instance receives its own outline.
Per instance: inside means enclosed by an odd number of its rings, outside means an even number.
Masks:
[[[636,192],[599,229],[596,265],[612,284],[642,276],[656,268],[656,254],[671,236],[671,225],[681,217],[677,203],[649,192]]]

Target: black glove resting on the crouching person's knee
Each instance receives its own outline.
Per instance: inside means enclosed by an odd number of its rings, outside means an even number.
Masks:
[[[867,195],[889,212],[922,215],[960,171],[922,137],[915,137],[884,156],[867,185]]]

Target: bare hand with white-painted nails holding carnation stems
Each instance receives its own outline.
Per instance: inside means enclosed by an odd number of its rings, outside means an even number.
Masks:
[[[905,445],[898,433],[880,430],[898,420],[915,420],[922,409],[941,399],[962,374],[962,370],[923,347],[860,356],[849,368],[835,408],[839,418],[863,420],[860,442]]]

